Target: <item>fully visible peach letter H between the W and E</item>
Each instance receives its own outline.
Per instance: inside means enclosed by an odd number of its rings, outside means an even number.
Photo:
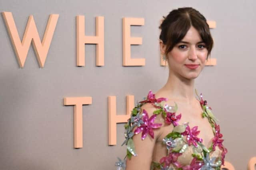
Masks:
[[[96,44],[96,66],[104,66],[104,17],[96,17],[96,36],[85,36],[84,30],[84,16],[76,16],[76,65],[85,66],[84,44]]]

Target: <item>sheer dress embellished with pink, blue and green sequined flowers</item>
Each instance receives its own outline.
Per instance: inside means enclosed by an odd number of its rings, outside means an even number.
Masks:
[[[166,156],[159,162],[152,162],[151,170],[220,170],[228,150],[222,144],[224,140],[220,133],[220,126],[216,123],[217,119],[212,114],[211,107],[208,107],[206,100],[203,100],[202,94],[199,96],[196,92],[196,95],[203,109],[202,117],[208,119],[214,133],[209,148],[204,146],[202,139],[197,137],[200,133],[198,126],[190,127],[189,123],[179,123],[182,115],[176,115],[178,109],[176,103],[175,106],[168,106],[164,104],[167,101],[166,98],[156,99],[155,94],[150,90],[148,96],[133,108],[131,117],[124,126],[125,140],[122,145],[126,145],[127,154],[124,160],[118,158],[117,170],[125,170],[126,159],[137,156],[132,140],[134,135],[141,134],[142,140],[146,137],[154,138],[154,129],[162,126],[162,123],[154,123],[157,116],[164,117],[165,123],[172,124],[174,128],[162,141],[167,149]],[[156,108],[151,117],[145,109],[141,109],[146,103],[151,103]]]

